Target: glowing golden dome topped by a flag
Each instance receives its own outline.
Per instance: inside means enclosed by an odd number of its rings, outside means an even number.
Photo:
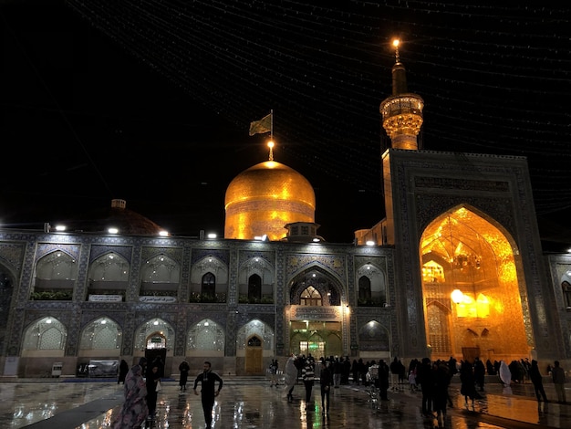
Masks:
[[[315,222],[316,194],[307,179],[275,161],[238,174],[226,189],[224,238],[285,237],[285,225]]]

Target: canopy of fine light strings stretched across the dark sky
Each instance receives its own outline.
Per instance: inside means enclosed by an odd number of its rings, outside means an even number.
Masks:
[[[571,8],[496,3],[67,0],[244,133],[274,110],[276,161],[375,195],[398,37],[425,101],[420,146],[527,156],[537,213],[560,212],[571,206]]]

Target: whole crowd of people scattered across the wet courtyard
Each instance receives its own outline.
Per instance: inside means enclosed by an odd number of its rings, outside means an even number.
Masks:
[[[321,396],[321,409],[324,417],[329,414],[329,401],[331,388],[338,387],[344,381],[344,374],[347,372],[348,359],[343,363],[343,358],[321,358],[319,365],[311,355],[295,356],[292,355],[285,363],[285,389],[284,396],[288,402],[293,402],[293,392],[298,378],[301,378],[305,387],[306,410],[309,409],[311,403],[311,395],[316,381],[316,371],[319,374],[319,386]],[[393,363],[399,362],[397,358]],[[359,365],[359,363],[362,364]],[[488,362],[486,362],[488,363]],[[526,368],[526,376],[534,384],[535,395],[537,401],[547,402],[547,395],[543,386],[543,375],[539,371],[537,361],[529,362],[529,368]],[[354,382],[363,382],[366,385],[373,383],[379,389],[379,397],[381,400],[388,400],[387,392],[389,390],[389,377],[394,374],[385,361],[368,361],[366,364],[362,360],[354,361],[353,367],[357,365],[357,370],[349,367],[354,372]],[[392,364],[391,364],[392,366]],[[399,382],[400,382],[400,365]],[[522,363],[522,366],[524,364]],[[277,372],[277,360],[272,360],[272,373]],[[180,380],[179,385],[181,391],[186,391],[188,382],[188,374],[190,365],[187,361],[182,361],[179,365]],[[565,383],[566,374],[561,367],[559,361],[554,362],[554,366],[548,366],[547,371],[553,378],[555,392],[557,394],[558,403],[566,403]],[[512,368],[504,361],[493,365],[493,372],[499,374],[504,385],[509,386],[512,382]],[[420,386],[421,392],[421,409],[426,416],[433,417],[436,413],[439,425],[444,424],[447,406],[452,406],[452,400],[449,394],[449,386],[452,377],[459,373],[461,388],[460,392],[464,397],[466,405],[468,401],[472,401],[472,405],[476,399],[482,398],[480,392],[484,391],[484,379],[486,366],[476,358],[473,363],[470,361],[457,362],[451,357],[449,361],[431,361],[429,358],[423,358],[421,361],[416,359],[410,361],[409,365],[409,382],[410,389],[417,390]],[[490,373],[490,371],[488,371]],[[364,375],[363,375],[364,374]],[[155,358],[150,365],[147,365],[146,358],[140,358],[137,365],[130,370],[126,361],[119,364],[118,383],[123,382],[125,385],[125,402],[119,412],[118,418],[113,424],[114,429],[129,429],[140,427],[146,419],[153,419],[156,413],[158,392],[161,391],[161,378],[164,377],[164,363],[161,357]],[[199,383],[202,386],[201,392],[198,392]],[[216,388],[216,383],[218,387]],[[277,386],[277,379],[272,378],[272,384]],[[194,380],[194,394],[202,395],[202,411],[204,413],[204,421],[206,427],[212,425],[212,413],[215,397],[218,396],[223,387],[222,378],[212,371],[212,365],[209,361],[204,361],[202,372],[198,374]]]

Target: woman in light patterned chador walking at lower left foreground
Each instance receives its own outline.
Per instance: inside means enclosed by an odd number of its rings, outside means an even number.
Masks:
[[[149,415],[147,406],[147,384],[143,379],[143,372],[147,359],[140,358],[137,365],[133,365],[125,377],[125,402],[121,405],[117,419],[112,424],[113,429],[139,428]]]

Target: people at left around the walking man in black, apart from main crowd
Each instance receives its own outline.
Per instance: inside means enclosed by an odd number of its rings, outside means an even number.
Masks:
[[[121,371],[125,371],[126,365],[127,362],[125,364],[121,362],[119,365],[118,382],[122,381]],[[179,365],[181,391],[186,391],[190,369],[187,361],[182,361]],[[112,424],[113,429],[139,428],[146,420],[155,418],[162,378],[164,378],[164,362],[160,356],[153,359],[149,365],[146,358],[140,358],[139,363],[127,371],[123,381],[125,402]],[[198,391],[199,383],[202,387],[200,392]],[[218,388],[216,388],[216,383],[218,383]],[[211,362],[204,361],[202,372],[194,380],[192,390],[194,394],[201,395],[202,412],[207,428],[212,426],[214,401],[222,390],[222,386],[223,380],[216,372],[212,371]]]

